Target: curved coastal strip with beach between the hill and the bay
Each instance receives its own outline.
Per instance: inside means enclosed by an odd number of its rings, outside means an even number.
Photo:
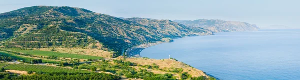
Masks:
[[[146,43],[146,44],[140,44],[140,45],[137,45],[137,46],[133,46],[131,48],[128,48],[125,52],[126,56],[128,57],[141,57],[139,55],[139,52],[147,47],[150,47],[150,46],[154,46],[154,45],[158,45],[158,44],[161,44],[161,43],[165,43],[165,42],[155,42],[155,43]]]

